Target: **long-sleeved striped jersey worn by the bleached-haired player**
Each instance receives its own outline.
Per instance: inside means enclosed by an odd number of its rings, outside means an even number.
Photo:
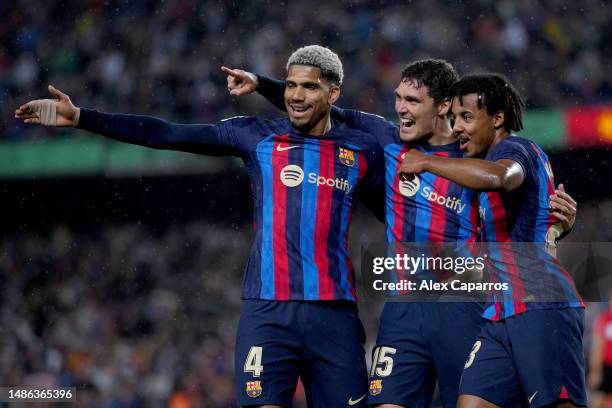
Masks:
[[[336,121],[313,137],[288,118],[182,125],[87,109],[79,127],[153,148],[241,157],[255,211],[243,298],[356,300],[347,252],[353,200],[383,188],[382,150],[371,135]]]

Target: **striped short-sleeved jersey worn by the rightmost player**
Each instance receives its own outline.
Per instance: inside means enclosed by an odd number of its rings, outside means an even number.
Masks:
[[[547,245],[555,246],[560,229],[560,222],[548,211],[549,196],[554,193],[548,157],[531,140],[512,135],[490,149],[485,159],[515,161],[525,179],[509,192],[480,193],[482,238],[491,243],[487,250],[497,270],[494,278],[509,285],[509,290],[494,293],[484,317],[500,320],[530,309],[583,307],[573,279],[546,251]]]

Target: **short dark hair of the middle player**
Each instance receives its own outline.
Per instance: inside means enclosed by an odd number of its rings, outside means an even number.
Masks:
[[[440,104],[448,98],[450,87],[459,80],[455,68],[445,60],[424,59],[411,62],[402,70],[402,81],[415,81],[425,85],[434,103]]]

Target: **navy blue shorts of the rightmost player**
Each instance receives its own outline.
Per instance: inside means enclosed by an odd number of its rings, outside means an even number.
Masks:
[[[460,394],[501,407],[542,407],[560,399],[586,406],[584,310],[530,310],[482,328],[465,363]]]

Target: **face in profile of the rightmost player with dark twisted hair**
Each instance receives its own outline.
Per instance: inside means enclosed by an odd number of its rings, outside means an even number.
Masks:
[[[489,115],[484,106],[478,106],[476,93],[454,97],[451,111],[455,118],[453,132],[465,156],[484,156],[493,145],[496,127],[504,122],[503,112]]]

